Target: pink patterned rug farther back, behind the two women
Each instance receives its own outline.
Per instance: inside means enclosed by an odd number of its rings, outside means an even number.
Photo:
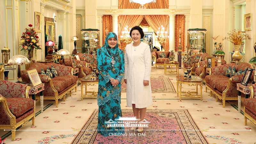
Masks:
[[[123,81],[122,81],[123,82]],[[151,77],[151,90],[155,92],[176,92],[168,77]],[[121,92],[126,92],[126,84],[122,83]]]

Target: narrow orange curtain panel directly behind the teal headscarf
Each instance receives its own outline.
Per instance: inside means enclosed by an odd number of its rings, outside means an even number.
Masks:
[[[106,32],[112,32],[112,16],[111,15],[103,15],[102,17],[102,23],[103,23],[103,36],[102,36],[102,41],[103,44],[105,42],[105,38],[106,38]],[[106,29],[108,29],[106,31]]]

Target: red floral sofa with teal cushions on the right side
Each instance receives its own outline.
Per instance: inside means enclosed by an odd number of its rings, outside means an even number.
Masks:
[[[226,76],[227,69],[235,67],[234,76]],[[211,68],[210,75],[205,76],[206,92],[207,88],[216,95],[216,102],[218,99],[222,100],[222,107],[225,107],[226,100],[238,100],[238,91],[236,90],[236,83],[241,83],[244,74],[239,74],[239,71],[244,71],[246,68],[252,68],[249,63],[243,62],[238,65],[235,63],[229,63],[221,66]],[[251,79],[253,75],[251,76]],[[243,100],[245,95],[242,93],[241,99]]]

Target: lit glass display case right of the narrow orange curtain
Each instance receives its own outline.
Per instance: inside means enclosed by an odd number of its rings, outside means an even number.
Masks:
[[[206,29],[188,29],[188,44],[191,45],[191,49],[205,53],[205,35]]]

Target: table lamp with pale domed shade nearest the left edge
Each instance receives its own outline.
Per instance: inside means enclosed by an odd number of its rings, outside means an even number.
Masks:
[[[9,65],[18,65],[18,72],[17,72],[18,82],[16,83],[26,84],[25,82],[22,82],[20,78],[20,65],[28,64],[28,63],[30,63],[30,61],[24,55],[15,55],[10,60],[8,60]]]

